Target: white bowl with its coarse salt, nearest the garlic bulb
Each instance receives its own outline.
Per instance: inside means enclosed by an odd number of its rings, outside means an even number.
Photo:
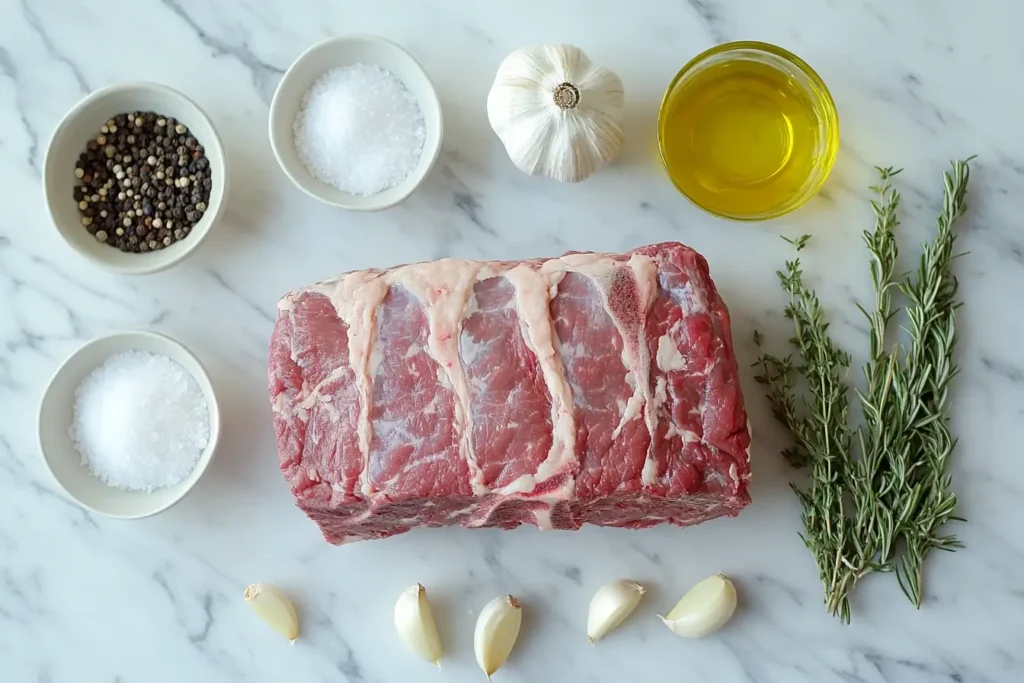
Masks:
[[[302,191],[378,211],[409,197],[441,148],[441,105],[420,63],[376,36],[331,38],[303,52],[274,92],[270,146]]]

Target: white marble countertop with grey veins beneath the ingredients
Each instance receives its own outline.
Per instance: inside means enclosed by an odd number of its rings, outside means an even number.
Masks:
[[[970,3],[325,2],[9,0],[0,4],[0,680],[474,681],[475,611],[506,591],[524,635],[495,680],[722,683],[1002,682],[1024,678],[1024,5]],[[370,32],[406,45],[444,106],[441,159],[398,208],[355,215],[321,206],[279,170],[266,136],[283,71],[313,41]],[[840,110],[843,146],[825,191],[795,215],[727,223],[691,207],[655,161],[663,90],[715,43],[761,39],[807,59]],[[487,88],[501,58],[572,42],[623,77],[628,142],[618,162],[563,186],[520,174],[490,132]],[[218,126],[231,163],[226,216],[174,269],[110,275],[58,241],[42,199],[46,141],[86,92],[167,83]],[[927,234],[952,158],[980,155],[958,262],[963,375],[952,470],[967,550],[933,557],[920,612],[894,581],[856,594],[854,622],[827,616],[779,429],[745,367],[752,331],[785,338],[774,270],[780,233],[817,236],[809,276],[836,333],[863,351],[853,299],[868,294],[860,230],[871,225],[871,165],[903,166],[903,243]],[[278,298],[350,268],[440,256],[520,258],[621,251],[679,240],[703,253],[734,316],[757,441],[754,504],[738,518],[679,530],[574,535],[447,529],[335,548],[294,507],[280,475],[266,400],[266,343]],[[178,507],[118,522],[84,512],[45,472],[34,436],[42,388],[84,340],[147,328],[190,345],[219,390],[225,434],[211,470]],[[1018,341],[1014,341],[1014,340]],[[675,639],[654,618],[713,571],[741,586],[721,634]],[[587,603],[607,580],[652,587],[628,628],[592,648]],[[298,598],[294,647],[256,622],[243,587],[272,581]],[[391,608],[415,582],[439,602],[451,654],[436,675],[397,644]]]

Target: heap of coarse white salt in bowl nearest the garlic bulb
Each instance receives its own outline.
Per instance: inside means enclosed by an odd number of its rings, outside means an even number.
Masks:
[[[310,175],[370,196],[404,180],[420,163],[423,113],[394,74],[354,63],[321,76],[302,97],[295,148]]]

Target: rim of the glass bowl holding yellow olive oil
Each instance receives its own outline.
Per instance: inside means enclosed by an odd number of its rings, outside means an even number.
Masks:
[[[828,156],[820,161],[820,167],[822,169],[820,174],[821,177],[813,183],[813,186],[810,189],[805,191],[802,196],[797,197],[795,201],[776,207],[775,209],[772,209],[771,211],[762,214],[740,215],[733,213],[724,213],[709,209],[708,207],[699,204],[693,198],[691,198],[686,193],[686,190],[684,190],[682,187],[679,186],[679,183],[676,182],[675,178],[673,178],[671,174],[667,173],[669,175],[669,180],[672,182],[672,185],[676,188],[676,190],[680,195],[685,197],[690,204],[700,209],[701,211],[710,213],[711,215],[717,216],[719,218],[724,218],[726,220],[733,220],[741,223],[754,223],[785,216],[796,211],[800,207],[804,206],[805,204],[807,204],[812,197],[818,194],[818,190],[821,189],[822,185],[824,185],[825,181],[828,179],[828,176],[831,174],[833,167],[836,165],[836,157],[839,152],[839,138],[840,138],[839,112],[836,108],[836,101],[833,99],[831,93],[828,91],[828,87],[825,85],[824,80],[821,78],[821,76],[818,75],[816,71],[814,71],[814,69],[811,68],[809,63],[807,63],[801,57],[797,56],[796,54],[785,49],[784,47],[779,47],[778,45],[758,40],[737,40],[729,43],[722,43],[720,45],[715,45],[713,47],[708,48],[707,50],[703,50],[702,52],[694,56],[692,59],[687,61],[685,65],[683,65],[683,68],[676,73],[676,75],[672,78],[672,81],[669,82],[669,86],[665,89],[665,94],[662,96],[662,103],[659,104],[657,112],[657,150],[658,150],[658,158],[662,161],[662,166],[666,171],[668,171],[669,163],[668,159],[666,159],[666,150],[665,150],[666,143],[665,143],[665,132],[663,127],[663,118],[665,116],[666,111],[668,110],[669,98],[671,97],[676,86],[685,77],[689,76],[691,72],[694,72],[708,59],[711,59],[712,57],[717,57],[722,54],[726,54],[728,52],[738,52],[744,50],[753,52],[762,52],[765,54],[769,54],[773,57],[776,57],[778,59],[781,59],[782,61],[790,63],[797,71],[802,73],[807,78],[808,81],[810,81],[811,85],[815,89],[815,94],[819,97],[821,101],[821,106],[824,110],[825,116],[830,122],[828,130],[828,139],[835,142],[835,144],[830,145],[830,153],[828,154]]]

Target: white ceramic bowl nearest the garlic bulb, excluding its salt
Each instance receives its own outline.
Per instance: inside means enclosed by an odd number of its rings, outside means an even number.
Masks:
[[[426,127],[419,165],[394,187],[369,197],[343,191],[312,177],[295,151],[293,131],[302,96],[313,82],[331,69],[358,62],[378,65],[397,76],[419,102]],[[299,55],[273,93],[269,126],[270,146],[292,182],[321,202],[353,211],[386,209],[413,194],[437,161],[443,135],[441,104],[426,72],[404,49],[376,36],[330,38]]]

